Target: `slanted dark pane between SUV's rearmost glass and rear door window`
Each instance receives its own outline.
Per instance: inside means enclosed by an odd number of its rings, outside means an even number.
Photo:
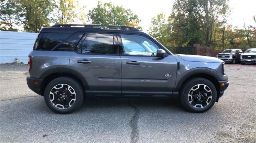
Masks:
[[[84,32],[76,32],[72,34],[70,37],[64,40],[64,42],[57,45],[53,51],[74,51],[76,45],[80,41]]]

